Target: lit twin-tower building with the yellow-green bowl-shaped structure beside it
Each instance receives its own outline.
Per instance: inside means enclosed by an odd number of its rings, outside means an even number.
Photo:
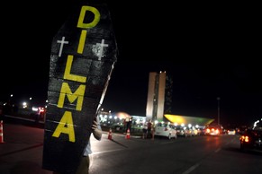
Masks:
[[[192,117],[171,114],[173,80],[166,72],[149,73],[149,89],[146,108],[146,119],[163,120],[178,125],[210,125],[212,117]]]

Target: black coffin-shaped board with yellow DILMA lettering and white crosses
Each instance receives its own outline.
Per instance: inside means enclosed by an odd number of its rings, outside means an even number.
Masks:
[[[76,172],[117,55],[107,5],[78,5],[51,44],[43,169]]]

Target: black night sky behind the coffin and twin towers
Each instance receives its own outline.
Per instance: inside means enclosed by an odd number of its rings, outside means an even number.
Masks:
[[[76,2],[8,3],[1,12],[1,100],[10,93],[47,99],[51,40]],[[173,114],[216,118],[220,97],[223,124],[262,117],[256,5],[135,0],[108,7],[119,57],[104,109],[145,116],[149,72],[167,71]]]

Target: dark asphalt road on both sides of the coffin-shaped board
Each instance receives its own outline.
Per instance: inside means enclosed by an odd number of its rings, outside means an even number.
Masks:
[[[41,169],[43,128],[4,122],[0,144],[1,174],[50,174]],[[260,174],[262,152],[239,152],[239,135],[178,137],[155,140],[104,132],[91,136],[90,174]]]

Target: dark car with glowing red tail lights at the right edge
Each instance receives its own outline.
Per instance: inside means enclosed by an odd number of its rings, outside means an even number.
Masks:
[[[239,137],[240,150],[262,152],[262,127],[258,129],[249,128]]]

